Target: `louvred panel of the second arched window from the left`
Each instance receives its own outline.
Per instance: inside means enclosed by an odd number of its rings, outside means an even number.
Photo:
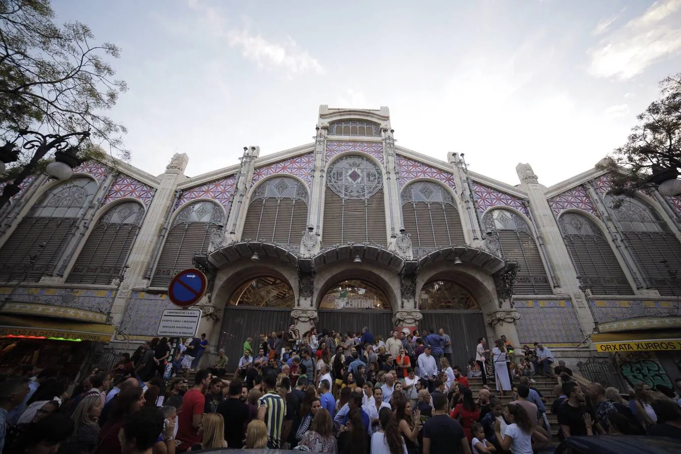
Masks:
[[[66,282],[109,285],[121,275],[140,227],[100,223],[88,237]]]

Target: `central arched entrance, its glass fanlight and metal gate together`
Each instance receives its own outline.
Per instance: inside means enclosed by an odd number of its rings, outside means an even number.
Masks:
[[[339,331],[368,329],[374,336],[392,330],[390,299],[379,287],[362,279],[336,282],[326,289],[319,302],[319,328]]]

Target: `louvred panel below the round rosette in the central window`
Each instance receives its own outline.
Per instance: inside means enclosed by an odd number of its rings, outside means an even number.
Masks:
[[[328,187],[324,202],[323,242],[386,244],[383,189],[368,199],[343,199]]]

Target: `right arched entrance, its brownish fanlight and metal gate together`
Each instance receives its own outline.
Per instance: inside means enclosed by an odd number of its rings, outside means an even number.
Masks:
[[[419,293],[419,309],[422,331],[444,328],[452,338],[452,366],[465,370],[475,359],[477,339],[487,336],[484,314],[471,292],[452,280],[430,280]]]

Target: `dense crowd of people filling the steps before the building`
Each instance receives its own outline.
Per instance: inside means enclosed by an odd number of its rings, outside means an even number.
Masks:
[[[70,393],[57,371],[27,366],[0,383],[0,454],[530,454],[552,433],[681,439],[681,380],[676,393],[638,383],[627,401],[618,389],[578,383],[539,343],[516,355],[505,337],[491,349],[480,338],[461,368],[443,329],[393,331],[385,340],[366,327],[296,331],[247,339],[229,376],[223,352],[199,368],[205,335],[144,342],[112,370],[91,370]],[[555,380],[550,406],[533,386],[537,375]],[[469,383],[477,378],[475,395]]]

